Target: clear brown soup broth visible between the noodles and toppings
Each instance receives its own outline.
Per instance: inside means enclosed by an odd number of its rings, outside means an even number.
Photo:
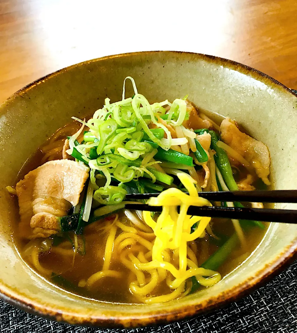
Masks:
[[[62,129],[62,131],[60,130],[61,135],[58,135],[58,139],[60,140],[58,146],[61,149],[57,153],[55,153],[51,159],[62,159],[62,147],[66,136],[73,135],[73,133],[75,133],[78,128],[79,124],[71,123],[66,125]],[[52,138],[50,138],[41,147],[41,149],[37,150],[36,153],[28,159],[28,161],[19,172],[18,180],[23,179],[24,175],[27,174],[30,170],[35,169],[36,167],[42,165],[45,162],[44,157],[47,154],[47,150],[55,149],[58,147],[57,144],[52,145],[53,147],[56,145],[54,148],[49,147],[51,145]],[[44,149],[44,147],[46,147],[47,149]],[[238,167],[237,171],[238,172],[236,174],[236,180],[240,180],[246,177],[246,170],[244,168]],[[128,226],[135,227],[135,225],[132,225],[122,212],[119,213],[119,220]],[[59,248],[58,251],[53,246],[51,250],[41,252],[39,254],[40,265],[46,270],[49,270],[50,272],[54,272],[55,274],[59,275],[58,279],[51,278],[51,274],[45,275],[45,278],[47,278],[52,283],[59,285],[63,289],[66,289],[70,292],[76,293],[84,297],[108,302],[139,303],[139,300],[137,300],[136,297],[134,297],[129,291],[129,284],[133,281],[133,279],[135,280],[135,277],[133,277],[131,271],[121,263],[117,251],[112,252],[111,265],[109,269],[122,272],[121,278],[104,277],[99,281],[95,282],[91,286],[91,288],[78,287],[81,280],[87,280],[92,274],[102,270],[105,243],[108,236],[108,230],[104,231],[104,227],[106,227],[106,225],[110,225],[111,222],[112,220],[108,218],[94,222],[85,227],[84,255],[76,253],[75,258],[73,259],[74,253],[70,242],[69,244],[67,244],[67,242],[64,242],[65,244],[58,245],[56,247]],[[222,277],[228,274],[234,268],[236,268],[251,254],[251,252],[256,248],[256,246],[263,238],[267,227],[268,223],[265,223],[265,228],[263,230],[254,227],[251,228],[247,233],[245,233],[247,247],[242,248],[240,245],[238,245],[232,251],[228,260],[218,269]],[[207,258],[219,248],[220,244],[223,242],[224,239],[227,239],[234,233],[234,227],[232,225],[232,222],[228,219],[212,219],[211,228],[213,230],[213,233],[215,235],[218,235],[220,239],[215,239],[207,233],[206,237],[198,238],[194,242],[189,244],[190,248],[197,256],[198,266],[201,265],[205,260],[207,260]],[[29,240],[22,238],[22,235],[18,230],[18,225],[14,225],[13,229],[13,238],[19,252],[23,256],[24,260],[33,269],[36,270],[35,266],[25,256],[24,253],[24,249],[26,249],[26,245],[28,244]],[[117,228],[116,236],[122,232],[124,231],[122,231],[120,228]],[[73,234],[70,233],[70,237],[73,239]],[[153,242],[152,238],[147,239]],[[39,240],[41,242],[43,239]],[[144,253],[147,251],[147,249],[143,245],[139,245],[138,243],[137,245],[128,246],[128,248],[130,248],[130,251],[132,253],[134,249],[137,249],[137,251],[141,250]],[[60,251],[60,249],[62,249],[62,251]],[[178,262],[176,266],[178,267]],[[40,274],[44,275],[42,273]],[[145,273],[145,275],[146,277],[149,277],[149,274]],[[172,290],[170,290],[165,281],[163,281],[157,287],[157,291],[154,295],[158,296],[170,292],[172,292]]]

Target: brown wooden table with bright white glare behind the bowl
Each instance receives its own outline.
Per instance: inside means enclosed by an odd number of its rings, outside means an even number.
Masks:
[[[0,102],[74,63],[144,50],[242,62],[297,88],[296,0],[0,0]]]

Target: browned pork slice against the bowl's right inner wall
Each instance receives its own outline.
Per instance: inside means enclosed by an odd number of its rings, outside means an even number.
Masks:
[[[221,123],[221,140],[245,158],[266,185],[270,184],[268,180],[269,151],[262,142],[240,132],[235,123],[229,118],[224,119]]]

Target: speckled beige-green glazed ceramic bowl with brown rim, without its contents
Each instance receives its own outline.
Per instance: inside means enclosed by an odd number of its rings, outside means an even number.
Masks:
[[[10,224],[18,211],[5,186],[52,133],[121,98],[132,76],[149,101],[189,94],[197,106],[235,118],[269,148],[275,189],[297,188],[297,97],[279,82],[236,62],[202,54],[140,52],[86,61],[39,79],[0,106],[0,292],[28,312],[78,325],[124,326],[191,316],[248,292],[297,250],[297,226],[271,224],[261,244],[215,286],[166,304],[111,304],[78,297],[33,272],[20,258]],[[296,208],[293,204],[278,204]]]

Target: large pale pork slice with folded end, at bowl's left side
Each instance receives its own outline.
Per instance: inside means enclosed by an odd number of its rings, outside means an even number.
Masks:
[[[89,168],[75,161],[49,161],[25,175],[16,184],[20,230],[24,238],[58,233],[57,217],[67,215],[78,204]],[[30,228],[28,226],[30,225]]]

